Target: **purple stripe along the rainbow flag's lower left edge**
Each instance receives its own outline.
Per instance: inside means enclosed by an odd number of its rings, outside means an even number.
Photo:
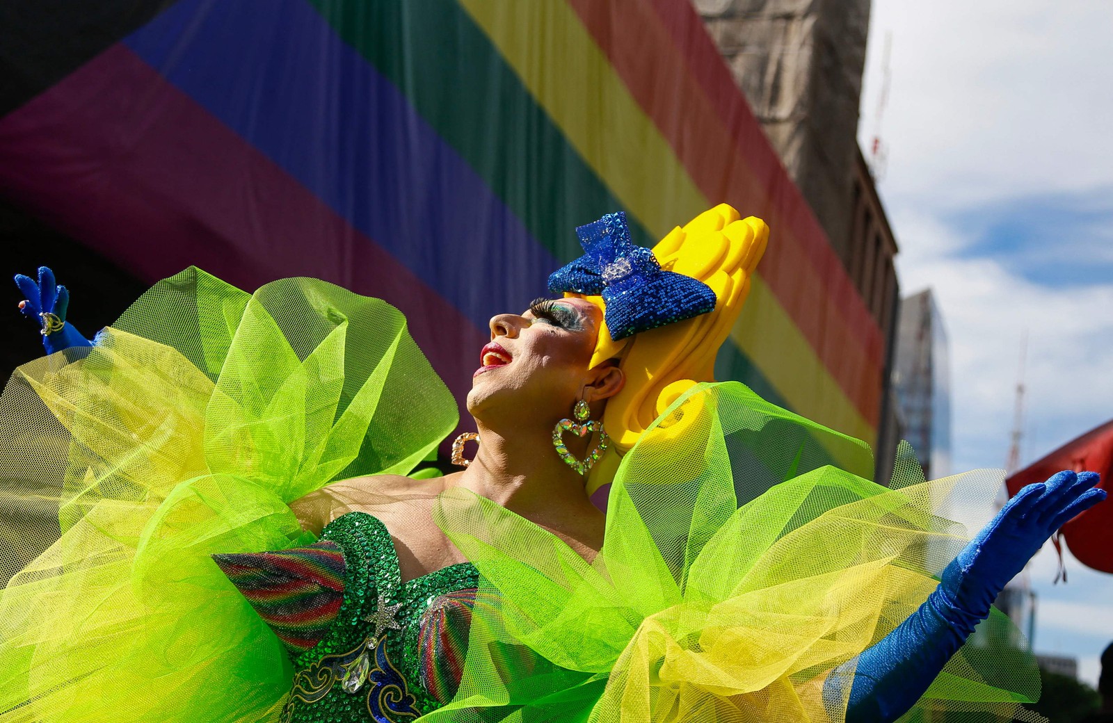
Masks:
[[[0,119],[0,192],[149,281],[196,265],[383,298],[457,403],[471,389],[485,330],[124,46]]]

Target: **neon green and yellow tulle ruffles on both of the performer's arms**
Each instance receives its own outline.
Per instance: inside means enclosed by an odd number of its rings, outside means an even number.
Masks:
[[[209,555],[308,542],[289,503],[410,472],[454,428],[451,395],[397,310],[309,279],[250,295],[190,269],[66,354],[0,397],[0,722],[276,720],[288,662]],[[429,720],[843,720],[855,656],[966,543],[948,504],[1001,479],[925,482],[905,454],[883,487],[833,458],[873,466],[740,384],[700,384],[615,465],[590,563],[445,493],[436,522],[483,588],[457,695]],[[993,618],[907,720],[1023,719],[1038,679],[1014,634]]]

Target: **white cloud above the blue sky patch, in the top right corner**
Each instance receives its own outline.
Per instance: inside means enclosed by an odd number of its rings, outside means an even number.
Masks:
[[[886,197],[963,205],[1110,185],[1111,27],[1106,0],[875,0],[861,135],[875,132],[892,31]]]

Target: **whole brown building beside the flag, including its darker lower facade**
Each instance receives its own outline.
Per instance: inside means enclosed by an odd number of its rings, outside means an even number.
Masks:
[[[890,394],[897,242],[858,148],[869,0],[692,0],[886,339],[876,478],[902,438]]]

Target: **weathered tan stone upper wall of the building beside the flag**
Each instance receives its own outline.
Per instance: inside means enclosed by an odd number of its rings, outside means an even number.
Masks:
[[[869,0],[693,0],[772,147],[849,266]]]

